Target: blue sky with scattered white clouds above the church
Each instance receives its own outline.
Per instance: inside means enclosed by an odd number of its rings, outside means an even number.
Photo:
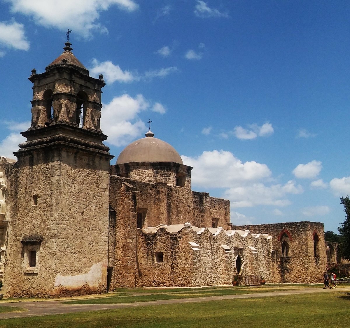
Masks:
[[[70,28],[73,53],[106,81],[111,154],[151,118],[194,167],[193,190],[230,199],[232,223],[337,232],[350,194],[349,14],[348,1],[3,0],[0,155],[25,140],[27,78]]]

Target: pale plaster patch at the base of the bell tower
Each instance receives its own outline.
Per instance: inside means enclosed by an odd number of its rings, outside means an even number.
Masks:
[[[100,286],[105,284],[107,275],[107,262],[103,261],[92,265],[89,272],[76,276],[61,276],[60,273],[56,275],[55,285],[57,288],[62,285],[69,291],[77,291],[81,289],[86,283],[89,285],[91,291],[96,292]]]

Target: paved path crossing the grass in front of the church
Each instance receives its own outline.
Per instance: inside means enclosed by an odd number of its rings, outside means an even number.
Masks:
[[[170,300],[159,300],[159,301],[147,301],[147,302],[136,302],[136,303],[122,303],[122,304],[63,304],[65,300],[57,301],[31,301],[31,302],[1,302],[0,306],[15,306],[25,308],[27,311],[23,312],[9,312],[0,313],[0,319],[7,318],[23,318],[29,316],[38,315],[49,315],[49,314],[64,314],[73,312],[83,311],[98,311],[98,310],[110,310],[119,309],[126,307],[139,307],[139,306],[150,306],[150,305],[161,305],[161,304],[178,304],[178,303],[195,303],[204,301],[217,301],[225,299],[235,298],[256,298],[256,297],[270,297],[270,296],[281,296],[281,295],[295,295],[295,294],[306,294],[306,293],[332,293],[332,292],[350,292],[350,286],[338,287],[337,289],[322,289],[312,287],[297,287],[293,290],[285,291],[271,291],[264,293],[252,293],[252,294],[240,294],[240,295],[225,295],[225,296],[205,296],[196,298],[182,298],[182,299],[170,299]],[[127,297],[126,297],[127,298]]]

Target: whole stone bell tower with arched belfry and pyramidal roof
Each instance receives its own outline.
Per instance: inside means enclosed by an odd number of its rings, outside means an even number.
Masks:
[[[15,152],[4,284],[9,296],[106,289],[109,147],[100,130],[99,79],[64,52],[36,74],[31,127]]]

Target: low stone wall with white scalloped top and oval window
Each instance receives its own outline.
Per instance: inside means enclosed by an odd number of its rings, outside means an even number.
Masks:
[[[272,244],[262,235],[242,236],[238,232],[228,234],[216,228],[183,225],[159,228],[154,233],[147,230],[152,229],[137,229],[135,280],[131,286],[231,284],[237,256],[244,261],[241,275],[270,279]]]

